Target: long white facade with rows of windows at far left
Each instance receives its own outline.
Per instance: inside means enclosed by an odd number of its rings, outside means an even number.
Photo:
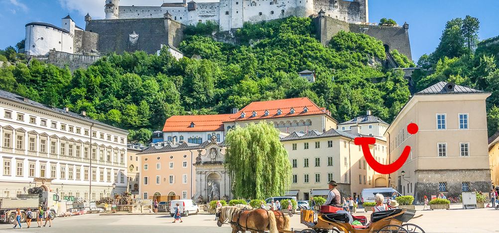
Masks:
[[[127,188],[127,135],[67,108],[0,90],[0,195],[15,197],[35,186],[87,201],[121,193]]]

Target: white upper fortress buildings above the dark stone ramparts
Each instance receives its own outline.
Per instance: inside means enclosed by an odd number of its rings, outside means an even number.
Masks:
[[[220,0],[211,2],[163,3],[161,6],[125,6],[119,0],[106,0],[106,19],[162,18],[166,12],[183,24],[212,20],[228,31],[244,22],[259,22],[288,16],[325,15],[350,23],[369,21],[368,0]]]

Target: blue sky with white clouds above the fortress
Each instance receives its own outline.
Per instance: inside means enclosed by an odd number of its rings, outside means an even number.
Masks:
[[[165,0],[174,1],[174,0]],[[179,0],[180,1],[180,0]],[[197,0],[206,1],[206,0]],[[0,0],[0,48],[14,46],[24,38],[24,25],[47,22],[61,26],[61,18],[70,14],[84,28],[84,15],[103,18],[105,0]],[[163,0],[120,0],[120,5],[159,6]],[[400,25],[409,23],[413,60],[437,47],[445,23],[471,15],[480,20],[480,39],[499,35],[499,0],[369,0],[369,21],[393,18]]]

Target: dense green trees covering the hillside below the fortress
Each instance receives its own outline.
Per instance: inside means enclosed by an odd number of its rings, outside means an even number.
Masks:
[[[340,122],[368,109],[390,122],[410,96],[403,73],[381,65],[382,42],[368,35],[341,31],[324,46],[310,18],[289,17],[246,23],[232,44],[214,39],[217,28],[212,22],[187,27],[179,46],[185,57],[178,61],[166,50],[159,56],[109,54],[71,73],[33,59],[0,68],[0,88],[85,110],[130,130],[129,140],[137,142],[148,142],[151,131],[175,114],[227,113],[252,101],[292,97],[310,98]],[[23,55],[15,51],[9,47],[0,54],[15,62]],[[304,69],[316,72],[316,82],[297,75]]]

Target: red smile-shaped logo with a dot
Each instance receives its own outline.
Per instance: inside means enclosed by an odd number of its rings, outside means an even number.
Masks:
[[[407,126],[407,132],[410,134],[416,134],[418,132],[418,125],[414,123],[409,124]],[[369,166],[371,166],[371,168],[374,169],[374,171],[381,174],[390,174],[399,170],[402,167],[402,165],[404,165],[405,161],[409,157],[409,154],[411,153],[411,147],[406,146],[400,157],[395,162],[393,162],[392,164],[384,165],[378,163],[378,161],[376,161],[374,157],[371,155],[371,151],[369,150],[369,145],[375,144],[376,138],[359,137],[355,138],[353,142],[355,143],[355,145],[360,145],[362,147],[362,153],[366,158],[367,164],[369,164]]]

